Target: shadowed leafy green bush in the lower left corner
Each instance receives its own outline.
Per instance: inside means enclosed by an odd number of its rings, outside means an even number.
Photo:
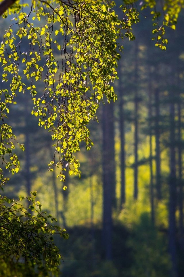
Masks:
[[[35,201],[36,191],[15,201],[0,198],[1,276],[55,276],[60,254],[53,243],[53,234],[68,238],[65,229],[51,223],[51,215],[41,212]],[[27,200],[30,205],[21,204]],[[43,263],[44,260],[44,263]]]

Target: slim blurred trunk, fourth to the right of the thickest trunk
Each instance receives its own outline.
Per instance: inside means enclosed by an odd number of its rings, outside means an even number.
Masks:
[[[161,199],[161,178],[160,178],[160,108],[159,89],[155,89],[155,139],[156,139],[156,190],[157,199]]]

